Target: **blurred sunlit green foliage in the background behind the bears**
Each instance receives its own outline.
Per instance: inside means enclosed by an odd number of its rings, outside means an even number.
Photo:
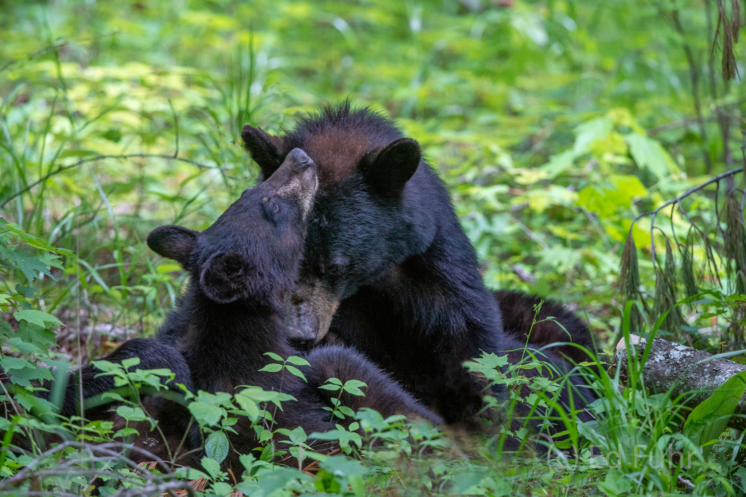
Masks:
[[[714,4],[0,1],[1,216],[78,251],[38,306],[73,325],[63,352],[80,326],[97,354],[154,332],[178,294],[147,232],[204,228],[253,183],[242,125],[350,97],[421,142],[489,286],[609,334],[632,219],[741,160],[746,90],[723,78]],[[687,208],[712,222],[711,197]]]

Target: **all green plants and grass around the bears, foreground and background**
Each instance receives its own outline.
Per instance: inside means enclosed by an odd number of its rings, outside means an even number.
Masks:
[[[363,434],[277,433],[267,407],[294,408],[282,393],[184,392],[199,470],[178,446],[146,467],[127,457],[133,427],[156,426],[137,392],[168,371],[98,363],[122,387],[124,428],[57,414],[71,367],[152,335],[181,291],[145,233],[206,227],[254,180],[242,125],[277,131],[349,95],[421,142],[489,286],[573,306],[607,352],[637,334],[743,363],[740,5],[0,1],[0,493],[745,495],[733,411],[651,393],[642,365],[607,373],[613,353],[577,370],[598,397],[584,412],[554,399],[568,376],[540,352],[467,364],[509,393],[487,398],[501,429],[481,436],[344,405],[330,417]],[[292,374],[297,360],[267,361]],[[242,416],[260,446],[223,472]],[[549,437],[548,422],[564,429]]]

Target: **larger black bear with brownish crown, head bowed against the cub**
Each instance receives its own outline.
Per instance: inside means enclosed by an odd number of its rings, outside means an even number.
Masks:
[[[419,144],[389,118],[348,102],[301,118],[284,136],[245,126],[242,138],[264,178],[293,148],[303,148],[319,171],[298,287],[288,308],[293,336],[320,341],[330,330],[447,422],[478,411],[481,394],[463,361],[482,351],[518,360],[521,352],[511,351],[522,349],[528,330],[511,334],[504,328],[448,191],[421,158]],[[533,306],[521,303],[518,319],[512,319],[513,309],[503,309],[505,321],[533,317]],[[589,343],[586,326],[571,325],[572,339]],[[531,343],[570,340],[559,327],[541,338]],[[565,405],[571,405],[568,395],[563,393]],[[574,405],[584,402],[576,399]]]

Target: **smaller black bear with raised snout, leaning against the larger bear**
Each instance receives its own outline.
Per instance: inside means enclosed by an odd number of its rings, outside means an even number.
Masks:
[[[301,367],[307,382],[260,371],[267,361],[265,352],[283,358],[297,354],[287,343],[284,301],[298,276],[307,215],[318,185],[316,166],[304,151],[289,151],[283,159],[268,180],[244,191],[203,232],[165,226],[148,235],[152,250],[175,259],[191,276],[159,339],[184,354],[197,390],[233,392],[248,384],[281,388],[298,399],[275,413],[275,428],[333,429],[324,409],[332,405],[330,392],[319,389],[331,377],[368,385],[365,396],[342,395],[342,404],[353,411],[370,407],[384,417],[411,413],[442,422],[354,349],[313,349],[305,356],[310,366]],[[259,445],[247,421],[242,417],[235,426],[235,450],[227,466],[235,467],[237,455]]]

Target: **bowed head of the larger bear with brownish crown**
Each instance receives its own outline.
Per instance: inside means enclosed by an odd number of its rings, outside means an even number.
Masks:
[[[301,118],[284,136],[245,126],[242,138],[263,177],[296,147],[316,162],[319,192],[286,315],[290,338],[319,341],[342,300],[430,245],[430,206],[443,199],[428,198],[419,185],[439,180],[415,140],[383,115],[348,103]]]

